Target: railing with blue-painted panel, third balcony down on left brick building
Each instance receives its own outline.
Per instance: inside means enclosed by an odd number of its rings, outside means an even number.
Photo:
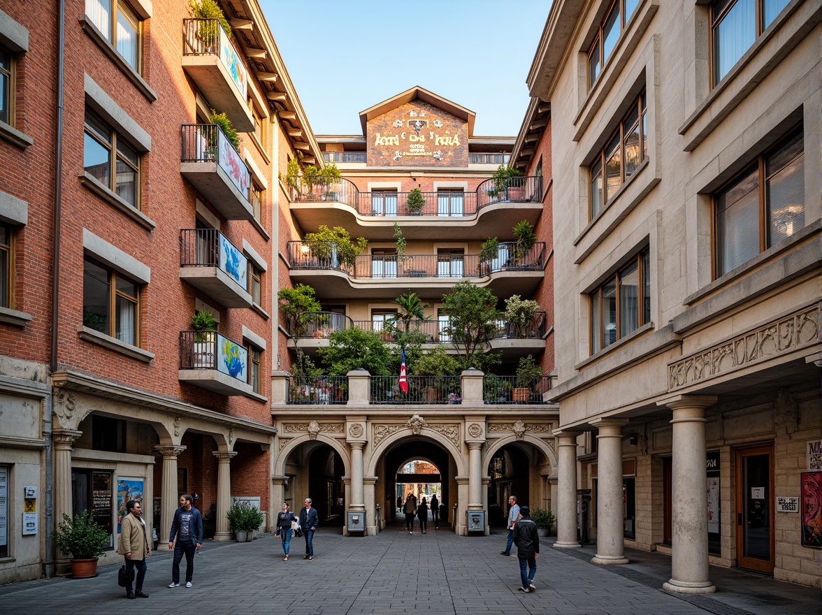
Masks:
[[[180,266],[218,267],[248,290],[248,259],[217,229],[182,229]]]

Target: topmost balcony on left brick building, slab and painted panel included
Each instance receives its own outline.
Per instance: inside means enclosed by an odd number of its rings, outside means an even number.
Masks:
[[[182,70],[239,132],[253,132],[254,118],[247,102],[248,72],[240,58],[219,20],[182,20]]]

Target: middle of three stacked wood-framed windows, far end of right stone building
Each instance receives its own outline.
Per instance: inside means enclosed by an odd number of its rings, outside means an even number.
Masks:
[[[599,215],[648,156],[646,103],[643,92],[589,167],[589,220]]]

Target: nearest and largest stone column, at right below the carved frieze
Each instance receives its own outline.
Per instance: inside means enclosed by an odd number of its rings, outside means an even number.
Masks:
[[[708,496],[705,489],[705,408],[713,395],[677,395],[660,402],[673,410],[671,462],[671,579],[663,590],[713,594],[708,574]]]

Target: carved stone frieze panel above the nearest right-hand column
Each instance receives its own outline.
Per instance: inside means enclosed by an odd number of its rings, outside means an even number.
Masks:
[[[733,372],[749,363],[815,344],[820,312],[816,305],[737,335],[722,344],[668,365],[668,390]]]

